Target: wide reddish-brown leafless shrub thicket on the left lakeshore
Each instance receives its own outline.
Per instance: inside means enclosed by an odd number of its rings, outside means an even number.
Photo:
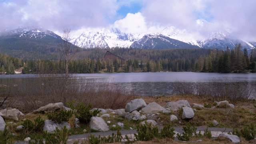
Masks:
[[[40,74],[28,78],[28,81],[15,91],[17,107],[23,112],[31,112],[49,103],[66,104],[71,100],[91,103],[98,108],[124,108],[132,98],[129,92],[110,82],[96,82],[75,75],[67,79],[65,74]]]

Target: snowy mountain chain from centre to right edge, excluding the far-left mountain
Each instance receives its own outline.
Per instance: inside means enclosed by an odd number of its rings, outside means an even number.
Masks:
[[[175,27],[164,28],[160,33],[133,34],[121,32],[118,28],[86,30],[70,42],[81,48],[141,48],[141,49],[170,49],[170,48],[218,48],[225,50],[234,48],[241,43],[243,48],[250,50],[256,42],[245,42],[231,38],[228,31],[217,31],[209,34],[204,40],[194,38],[192,32],[179,30]]]

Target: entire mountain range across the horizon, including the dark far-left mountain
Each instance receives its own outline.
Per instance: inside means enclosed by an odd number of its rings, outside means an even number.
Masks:
[[[197,40],[191,32],[166,27],[160,33],[125,33],[118,28],[86,29],[82,34],[71,38],[73,47],[80,48],[218,48],[230,49],[241,43],[248,50],[255,48],[256,42],[246,42],[231,37],[227,30],[211,32],[203,40]],[[50,30],[38,27],[19,27],[0,30],[0,52],[17,58],[54,59],[62,42]],[[34,54],[32,54],[34,53]]]

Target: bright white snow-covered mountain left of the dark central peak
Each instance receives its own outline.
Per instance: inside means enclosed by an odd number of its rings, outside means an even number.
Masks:
[[[130,45],[142,37],[142,34],[124,33],[118,28],[85,30],[80,36],[70,42],[81,48],[129,48]]]

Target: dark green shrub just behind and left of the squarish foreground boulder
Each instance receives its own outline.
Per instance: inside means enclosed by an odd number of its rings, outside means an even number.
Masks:
[[[74,100],[67,103],[67,105],[72,108],[73,110],[77,110],[75,113],[76,118],[79,119],[81,123],[88,123],[92,116],[97,116],[100,113],[100,110],[94,110],[90,112],[92,109],[92,104],[88,104],[86,106],[84,102],[80,102],[77,106],[74,106]]]

